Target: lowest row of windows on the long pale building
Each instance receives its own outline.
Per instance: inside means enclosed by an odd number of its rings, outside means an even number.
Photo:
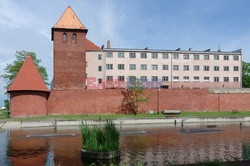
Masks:
[[[131,76],[129,79],[136,79],[135,76]],[[113,76],[106,76],[106,80],[107,81],[112,81],[113,80]],[[120,81],[125,81],[125,77],[124,76],[118,76],[118,80]],[[140,77],[141,81],[148,81],[147,76],[141,76]],[[158,76],[152,76],[151,77],[151,81],[158,81]],[[159,81],[169,81],[168,80],[168,76],[162,76],[162,80]],[[179,81],[179,76],[173,76],[173,81]],[[183,81],[190,81],[189,76],[184,76],[183,77]],[[194,76],[193,77],[193,81],[200,81],[200,77],[199,76]],[[203,81],[204,82],[209,82],[210,81],[210,77],[203,77]],[[220,82],[220,77],[213,77],[213,81],[214,82]],[[229,77],[223,77],[223,81],[224,82],[229,82]],[[102,81],[98,81],[99,83],[102,83]],[[233,77],[233,82],[239,82],[239,77]]]

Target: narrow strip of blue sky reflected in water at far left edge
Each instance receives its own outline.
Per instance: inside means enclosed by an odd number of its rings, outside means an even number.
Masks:
[[[10,165],[7,155],[9,135],[9,131],[0,130],[0,165]]]

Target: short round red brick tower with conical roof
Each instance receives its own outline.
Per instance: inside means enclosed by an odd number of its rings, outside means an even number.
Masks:
[[[49,89],[31,57],[28,56],[10,85],[11,117],[47,115]]]

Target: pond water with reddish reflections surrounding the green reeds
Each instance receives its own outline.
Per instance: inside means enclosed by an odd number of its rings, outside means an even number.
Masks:
[[[250,126],[130,126],[120,129],[113,165],[176,165],[250,159]],[[79,128],[0,130],[0,165],[89,165]],[[101,165],[102,162],[96,162]],[[108,164],[107,164],[108,165]]]

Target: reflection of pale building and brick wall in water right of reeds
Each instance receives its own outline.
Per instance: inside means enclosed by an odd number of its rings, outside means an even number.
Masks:
[[[249,139],[250,135],[242,135],[238,128],[192,134],[168,129],[157,130],[157,133],[150,135],[123,136],[120,140],[121,149],[126,153],[123,154],[122,162],[165,165],[215,159],[242,160],[242,137]]]

